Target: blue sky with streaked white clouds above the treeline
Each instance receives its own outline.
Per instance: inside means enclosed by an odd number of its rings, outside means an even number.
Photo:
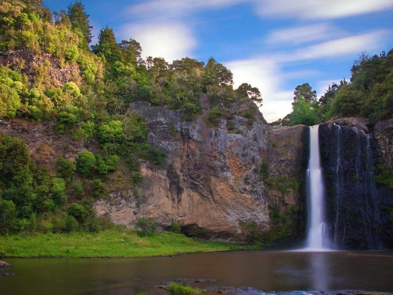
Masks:
[[[107,24],[116,38],[141,43],[143,57],[171,62],[213,56],[233,72],[234,87],[261,90],[272,122],[291,111],[296,85],[318,96],[349,79],[358,54],[393,48],[392,0],[84,0],[97,42]],[[52,11],[70,2],[44,0]]]

